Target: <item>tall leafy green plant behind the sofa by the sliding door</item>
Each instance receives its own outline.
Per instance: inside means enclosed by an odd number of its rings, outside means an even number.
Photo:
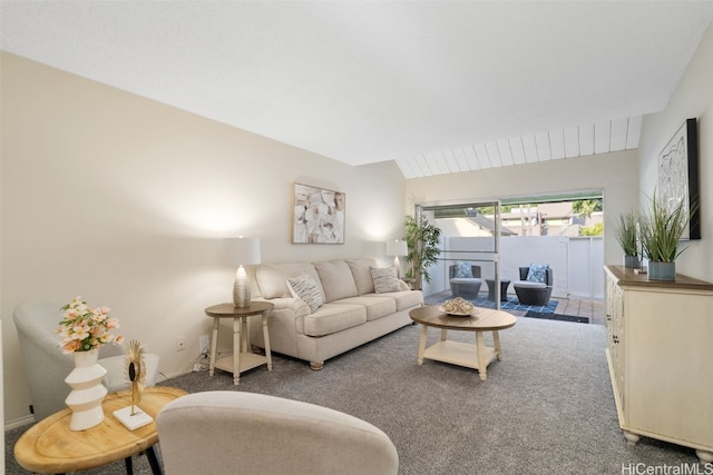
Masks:
[[[409,254],[406,256],[407,263],[411,263],[411,268],[407,270],[407,278],[413,279],[413,289],[421,289],[421,281],[431,281],[428,268],[436,264],[440,249],[438,247],[441,230],[438,226],[431,225],[427,218],[416,219],[407,216],[403,220],[404,239],[409,246]]]

